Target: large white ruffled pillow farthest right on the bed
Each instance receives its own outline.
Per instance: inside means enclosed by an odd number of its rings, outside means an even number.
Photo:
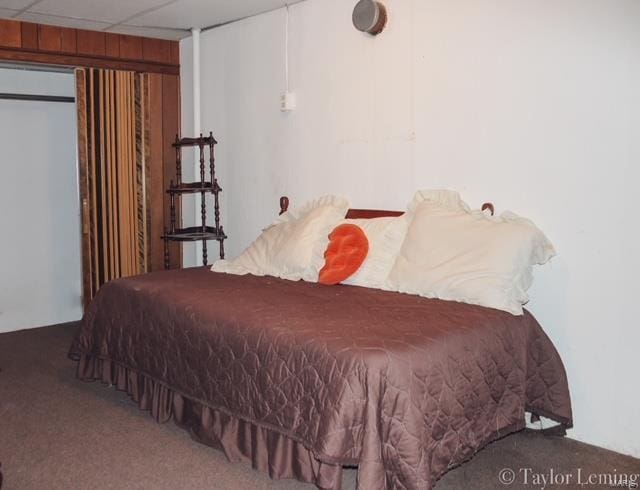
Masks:
[[[446,192],[445,200],[418,193],[412,201],[389,288],[521,315],[532,266],[553,257],[553,246],[531,221],[471,211],[457,193]]]

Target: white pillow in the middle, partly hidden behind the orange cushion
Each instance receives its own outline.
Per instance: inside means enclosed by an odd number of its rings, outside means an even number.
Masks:
[[[409,220],[403,216],[372,219],[346,219],[367,235],[369,253],[360,268],[342,284],[384,289],[389,272],[400,252]]]

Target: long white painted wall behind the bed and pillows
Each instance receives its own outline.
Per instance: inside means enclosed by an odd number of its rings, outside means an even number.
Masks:
[[[568,370],[570,435],[640,456],[640,2],[387,0],[377,38],[354,3],[290,8],[290,114],[284,10],[202,34],[230,255],[283,194],[403,209],[451,188],[528,216],[559,253],[529,308]]]

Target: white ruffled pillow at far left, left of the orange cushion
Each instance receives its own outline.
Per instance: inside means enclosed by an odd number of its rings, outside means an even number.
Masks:
[[[211,270],[315,282],[324,265],[329,233],[348,208],[349,202],[337,196],[310,201],[281,215],[239,257],[218,260]]]

